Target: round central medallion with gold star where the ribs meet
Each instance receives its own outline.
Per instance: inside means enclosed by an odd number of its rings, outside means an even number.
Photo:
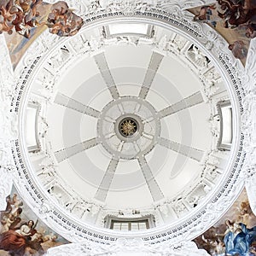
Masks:
[[[160,136],[160,119],[149,102],[125,96],[102,109],[97,131],[103,148],[114,159],[131,160],[154,148]]]

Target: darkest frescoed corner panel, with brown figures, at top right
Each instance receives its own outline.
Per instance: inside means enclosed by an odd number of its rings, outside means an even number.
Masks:
[[[188,9],[194,20],[212,26],[230,44],[232,54],[245,65],[252,38],[256,37],[256,1],[217,0]]]

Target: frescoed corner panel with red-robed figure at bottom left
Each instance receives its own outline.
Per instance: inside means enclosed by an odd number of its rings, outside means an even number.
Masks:
[[[69,243],[36,217],[15,187],[0,212],[0,256],[39,256],[50,247]]]

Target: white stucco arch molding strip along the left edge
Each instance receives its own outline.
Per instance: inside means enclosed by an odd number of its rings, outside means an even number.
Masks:
[[[18,136],[17,116],[11,112],[15,91],[15,75],[3,35],[0,35],[0,211],[5,209],[5,198],[12,188],[11,141]]]

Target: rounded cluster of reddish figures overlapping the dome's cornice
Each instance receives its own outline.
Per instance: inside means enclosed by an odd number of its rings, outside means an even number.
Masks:
[[[57,34],[59,37],[75,35],[83,24],[84,20],[75,15],[64,1],[53,4],[47,20],[49,32]]]

